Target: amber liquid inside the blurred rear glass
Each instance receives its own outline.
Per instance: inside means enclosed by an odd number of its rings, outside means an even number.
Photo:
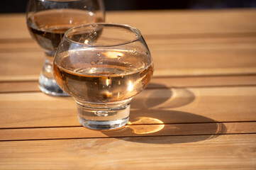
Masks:
[[[39,11],[28,18],[28,30],[43,47],[46,54],[53,56],[65,32],[74,26],[102,22],[91,11],[78,9],[50,9]]]

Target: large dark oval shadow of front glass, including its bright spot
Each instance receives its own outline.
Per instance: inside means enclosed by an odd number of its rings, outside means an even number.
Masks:
[[[180,111],[148,111],[148,114],[143,114],[147,117],[137,117],[135,115],[140,111],[132,111],[132,125],[102,133],[109,137],[118,136],[121,140],[151,144],[198,142],[226,133],[223,123],[201,115]]]

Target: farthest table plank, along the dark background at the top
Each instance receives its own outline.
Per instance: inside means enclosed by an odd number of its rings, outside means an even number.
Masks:
[[[135,26],[143,35],[255,33],[255,17],[254,9],[106,12],[106,22]],[[1,14],[0,23],[1,39],[30,38],[24,14]]]

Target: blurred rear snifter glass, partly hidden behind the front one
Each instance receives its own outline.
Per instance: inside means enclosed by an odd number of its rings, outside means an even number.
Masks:
[[[101,0],[30,0],[26,9],[28,30],[45,52],[39,88],[52,96],[67,96],[52,74],[53,56],[66,30],[85,23],[104,22]],[[37,57],[37,56],[35,56]]]

